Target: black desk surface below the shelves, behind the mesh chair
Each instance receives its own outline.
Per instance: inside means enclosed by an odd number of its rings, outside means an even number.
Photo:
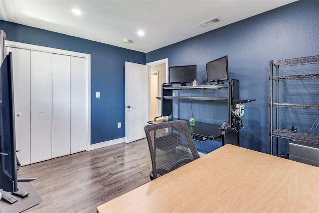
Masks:
[[[190,125],[188,120],[180,119],[180,118],[165,118],[165,119],[159,119],[156,121],[148,121],[148,123],[149,124],[159,124],[159,123],[168,122],[168,121],[175,121],[175,120],[186,121],[188,128],[190,130],[190,133],[191,133],[194,140],[205,141],[207,139],[210,139],[210,140],[221,139],[222,146],[224,146],[226,144],[225,135],[234,133],[235,137],[236,137],[236,143],[231,143],[231,144],[239,146],[239,140],[238,140],[239,133],[234,132],[233,129],[229,129],[229,130],[225,130],[225,131],[218,129],[218,128],[220,128],[221,125],[203,123],[203,122],[198,122],[198,121],[196,121],[195,125]]]

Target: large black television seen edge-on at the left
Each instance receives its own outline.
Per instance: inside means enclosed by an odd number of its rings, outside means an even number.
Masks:
[[[0,67],[0,189],[18,191],[14,132],[12,53]]]

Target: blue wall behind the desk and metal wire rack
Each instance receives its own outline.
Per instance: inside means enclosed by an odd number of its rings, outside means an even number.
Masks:
[[[245,104],[241,146],[269,153],[269,60],[318,55],[318,11],[318,0],[297,1],[149,52],[146,61],[168,58],[169,66],[197,64],[200,85],[207,84],[206,62],[228,55],[229,77],[240,80],[241,98],[257,99]],[[319,104],[318,92],[315,97]],[[221,124],[222,107],[212,106],[193,102],[196,120]],[[189,102],[173,107],[175,115],[179,111],[177,116],[189,118]]]

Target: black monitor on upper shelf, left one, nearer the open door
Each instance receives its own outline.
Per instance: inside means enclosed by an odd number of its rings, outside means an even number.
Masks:
[[[179,83],[186,86],[186,83],[192,83],[196,79],[196,65],[188,66],[170,66],[168,68],[169,83]]]

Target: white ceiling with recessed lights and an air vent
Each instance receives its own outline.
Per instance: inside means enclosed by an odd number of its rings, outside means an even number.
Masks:
[[[0,0],[0,19],[147,53],[293,1]]]

